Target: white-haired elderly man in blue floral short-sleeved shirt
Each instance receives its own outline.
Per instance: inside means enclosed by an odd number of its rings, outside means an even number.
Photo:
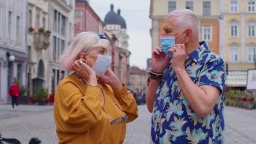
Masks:
[[[199,42],[200,23],[191,10],[171,11],[162,28],[161,38],[174,36],[175,44],[166,50],[161,41],[152,55],[151,143],[223,143],[223,59]]]

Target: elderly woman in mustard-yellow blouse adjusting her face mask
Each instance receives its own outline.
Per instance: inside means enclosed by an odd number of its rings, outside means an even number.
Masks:
[[[108,67],[109,41],[101,34],[78,34],[61,56],[75,71],[55,93],[54,120],[59,143],[123,143],[126,123],[138,117],[135,99]]]

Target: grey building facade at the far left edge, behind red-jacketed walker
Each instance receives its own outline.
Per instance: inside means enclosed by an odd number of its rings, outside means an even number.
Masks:
[[[0,103],[10,101],[14,79],[27,82],[26,0],[0,0]]]

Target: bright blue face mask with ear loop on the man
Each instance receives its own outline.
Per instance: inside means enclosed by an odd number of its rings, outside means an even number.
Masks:
[[[172,56],[172,53],[169,52],[167,53],[167,51],[173,46],[175,45],[175,39],[182,34],[185,31],[185,29],[179,33],[176,37],[171,36],[171,37],[160,37],[160,42],[161,42],[161,46],[162,46],[162,51],[169,57]]]

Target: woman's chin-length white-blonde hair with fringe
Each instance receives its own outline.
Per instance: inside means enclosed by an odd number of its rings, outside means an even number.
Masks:
[[[65,49],[60,57],[61,65],[64,69],[73,70],[72,64],[79,59],[81,52],[88,52],[90,49],[96,47],[110,48],[107,39],[100,39],[98,34],[94,32],[82,32],[75,36],[71,45]]]

